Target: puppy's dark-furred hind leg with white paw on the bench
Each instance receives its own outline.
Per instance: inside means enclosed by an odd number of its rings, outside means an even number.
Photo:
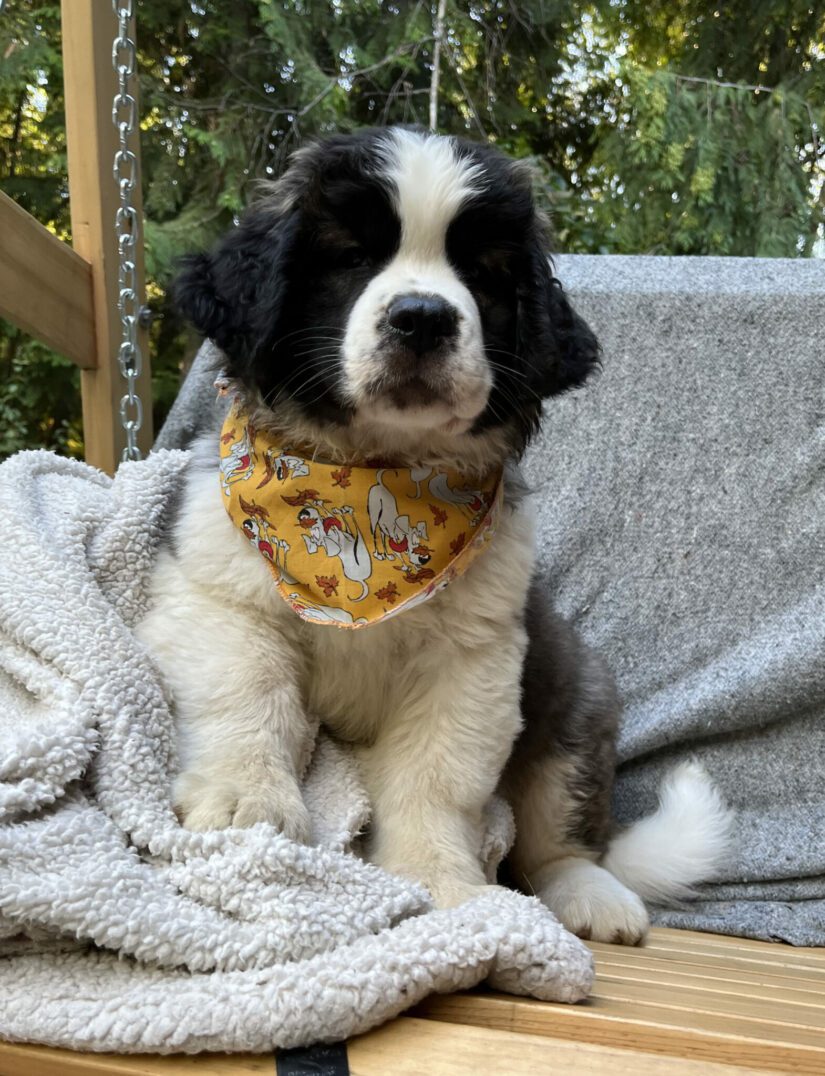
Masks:
[[[531,596],[529,610],[525,727],[502,779],[516,824],[512,881],[581,937],[635,945],[648,931],[644,905],[596,863],[612,827],[613,682],[541,595]]]

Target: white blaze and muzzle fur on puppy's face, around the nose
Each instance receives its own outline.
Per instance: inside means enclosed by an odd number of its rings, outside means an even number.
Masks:
[[[450,222],[479,189],[481,169],[459,158],[451,139],[394,130],[383,144],[381,170],[395,192],[401,241],[353,307],[341,349],[344,392],[370,423],[465,433],[486,407],[493,377],[479,309],[450,265],[445,244]],[[446,392],[426,407],[399,409],[375,394],[385,367],[381,325],[400,295],[441,296],[458,313],[457,339],[439,364]]]

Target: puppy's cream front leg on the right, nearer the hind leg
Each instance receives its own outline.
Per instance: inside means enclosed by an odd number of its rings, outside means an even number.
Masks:
[[[481,633],[481,628],[479,629]],[[439,907],[482,892],[482,811],[521,726],[521,628],[475,647],[444,641],[378,739],[359,752],[373,822],[369,859],[423,882]]]

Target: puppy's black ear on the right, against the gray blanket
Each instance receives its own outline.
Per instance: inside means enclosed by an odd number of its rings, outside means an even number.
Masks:
[[[599,342],[567,300],[536,240],[518,295],[518,354],[540,396],[575,388],[599,365]]]

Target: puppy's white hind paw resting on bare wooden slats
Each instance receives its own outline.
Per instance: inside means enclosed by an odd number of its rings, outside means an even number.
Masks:
[[[570,856],[535,876],[536,893],[580,938],[639,945],[650,922],[641,900],[608,870]]]

